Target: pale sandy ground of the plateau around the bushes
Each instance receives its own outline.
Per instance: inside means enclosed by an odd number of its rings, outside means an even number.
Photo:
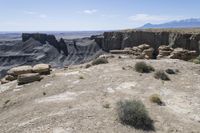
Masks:
[[[200,65],[180,60],[145,60],[155,69],[178,69],[171,81],[132,68],[140,60],[109,59],[85,69],[54,70],[41,82],[0,86],[1,133],[143,133],[120,124],[116,103],[141,100],[157,133],[200,133]],[[84,66],[84,65],[82,65]],[[125,70],[122,69],[125,68]],[[80,77],[83,77],[80,78]],[[160,94],[165,106],[149,101]],[[105,105],[109,105],[106,108]]]

